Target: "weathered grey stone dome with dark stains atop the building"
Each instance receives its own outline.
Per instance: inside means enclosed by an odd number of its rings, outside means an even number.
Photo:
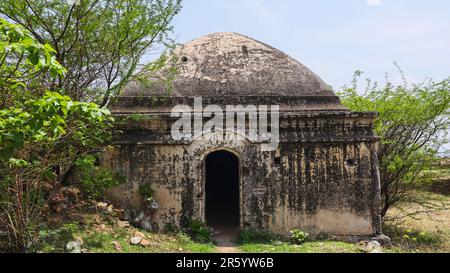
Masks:
[[[165,56],[161,69],[125,86],[113,112],[167,113],[194,97],[215,105],[279,105],[285,112],[349,111],[306,66],[237,33],[209,34]]]

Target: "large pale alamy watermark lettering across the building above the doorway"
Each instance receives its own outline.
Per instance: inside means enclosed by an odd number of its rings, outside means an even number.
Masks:
[[[278,105],[219,105],[203,107],[202,98],[194,98],[194,107],[179,104],[172,108],[171,117],[176,141],[198,139],[242,140],[261,142],[262,151],[274,151],[279,144]],[[209,118],[206,122],[204,118]]]

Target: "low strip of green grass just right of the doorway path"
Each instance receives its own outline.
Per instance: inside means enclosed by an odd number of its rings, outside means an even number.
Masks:
[[[243,252],[251,253],[360,253],[361,249],[352,243],[338,241],[306,242],[301,245],[289,243],[256,243],[239,246]]]

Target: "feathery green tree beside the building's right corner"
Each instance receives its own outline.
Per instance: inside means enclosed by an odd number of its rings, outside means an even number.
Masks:
[[[358,94],[355,73],[353,85],[338,95],[354,111],[379,113],[374,130],[381,137],[378,151],[381,177],[381,214],[405,201],[417,201],[411,186],[420,182],[420,173],[436,159],[438,150],[448,142],[450,125],[450,78],[441,82],[379,87],[368,80],[363,94]]]

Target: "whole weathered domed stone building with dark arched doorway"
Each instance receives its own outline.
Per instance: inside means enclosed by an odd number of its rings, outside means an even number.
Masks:
[[[217,229],[381,233],[375,113],[351,112],[307,67],[236,33],[201,37],[172,56],[171,86],[133,82],[112,108],[121,133],[103,164],[127,178],[110,195],[130,220],[153,229],[199,219]],[[279,143],[270,150],[264,139],[215,136],[226,128],[174,139],[173,107],[195,98],[223,109],[276,105]],[[193,124],[210,119],[195,111]]]

